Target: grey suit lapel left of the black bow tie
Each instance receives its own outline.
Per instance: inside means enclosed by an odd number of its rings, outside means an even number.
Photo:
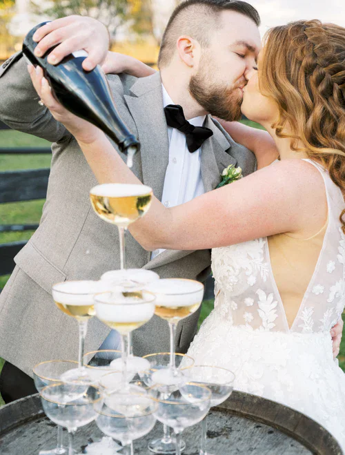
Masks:
[[[169,139],[159,72],[138,79],[130,91],[135,96],[125,95],[125,99],[137,125],[144,184],[161,200],[169,160]]]

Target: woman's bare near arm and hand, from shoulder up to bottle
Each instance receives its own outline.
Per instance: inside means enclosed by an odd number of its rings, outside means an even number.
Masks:
[[[141,184],[106,135],[64,109],[52,97],[42,71],[37,72],[30,69],[39,97],[75,136],[99,183]],[[153,197],[150,211],[131,224],[130,232],[147,250],[195,250],[296,232],[304,226],[313,229],[311,215],[315,221],[315,206],[324,200],[315,189],[321,187],[320,179],[311,164],[284,160],[172,209]]]

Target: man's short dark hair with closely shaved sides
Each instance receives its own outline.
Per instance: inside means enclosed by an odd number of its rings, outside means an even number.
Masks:
[[[249,17],[257,26],[260,17],[257,10],[241,0],[184,0],[172,12],[159,50],[158,66],[167,66],[175,53],[177,38],[189,35],[206,47],[210,33],[217,30],[222,11],[234,11]]]

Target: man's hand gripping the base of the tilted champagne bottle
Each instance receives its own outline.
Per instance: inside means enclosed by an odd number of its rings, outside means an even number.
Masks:
[[[58,64],[64,57],[77,50],[86,50],[84,70],[93,70],[103,64],[108,53],[110,37],[106,26],[92,17],[68,16],[55,19],[34,33],[37,41],[35,54],[39,57],[57,46],[48,56],[48,63]]]

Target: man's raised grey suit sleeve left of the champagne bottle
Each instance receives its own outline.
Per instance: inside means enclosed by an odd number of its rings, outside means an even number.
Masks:
[[[0,119],[14,130],[29,133],[50,142],[58,142],[70,133],[46,106],[40,106],[39,97],[22,52],[12,55],[0,67]]]

